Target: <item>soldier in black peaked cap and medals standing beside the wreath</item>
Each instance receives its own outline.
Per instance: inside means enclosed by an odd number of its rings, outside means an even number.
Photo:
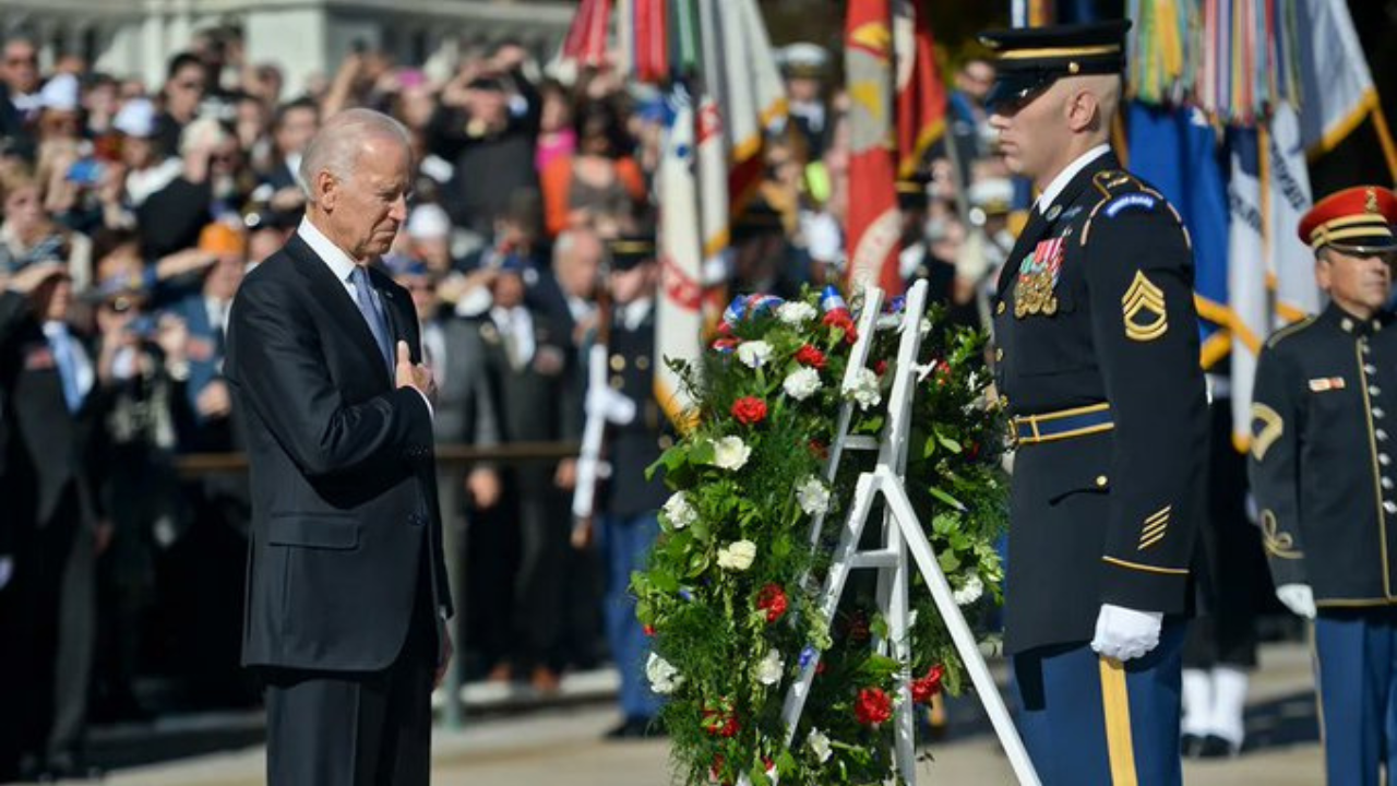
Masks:
[[[1039,192],[992,308],[1017,442],[1004,646],[1045,785],[1182,779],[1207,404],[1187,234],[1106,144],[1127,28],[982,36],[1002,154]]]

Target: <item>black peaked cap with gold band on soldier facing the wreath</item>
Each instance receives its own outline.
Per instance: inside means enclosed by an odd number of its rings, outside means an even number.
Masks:
[[[995,57],[995,87],[985,103],[1023,101],[1062,77],[1119,74],[1130,20],[982,32]]]

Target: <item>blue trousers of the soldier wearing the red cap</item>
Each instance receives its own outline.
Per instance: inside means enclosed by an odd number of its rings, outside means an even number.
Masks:
[[[1397,610],[1322,608],[1315,649],[1329,783],[1377,786],[1397,766]]]

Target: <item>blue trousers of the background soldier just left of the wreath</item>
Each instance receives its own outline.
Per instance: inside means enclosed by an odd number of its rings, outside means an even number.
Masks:
[[[650,689],[645,660],[650,642],[636,620],[636,597],[630,575],[645,568],[650,547],[659,536],[659,519],[648,512],[638,516],[601,516],[598,545],[606,561],[606,642],[620,671],[620,709],[627,719],[648,720],[659,713],[659,696]]]

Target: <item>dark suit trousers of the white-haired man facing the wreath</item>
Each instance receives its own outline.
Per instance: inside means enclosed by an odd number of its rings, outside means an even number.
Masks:
[[[427,786],[436,614],[419,569],[412,622],[383,671],[267,669],[268,786]]]

